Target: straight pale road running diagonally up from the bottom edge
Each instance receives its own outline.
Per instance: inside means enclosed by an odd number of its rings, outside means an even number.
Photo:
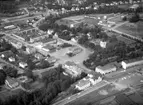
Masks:
[[[109,84],[107,81],[101,81],[101,82],[97,83],[96,85],[87,88],[85,91],[82,91],[80,93],[77,93],[77,94],[74,94],[74,95],[72,95],[70,97],[67,97],[67,98],[65,98],[65,99],[63,99],[61,101],[58,101],[58,102],[54,103],[53,105],[65,105],[67,103],[70,103],[70,102],[76,100],[77,98],[80,98],[80,97],[82,97],[82,96],[84,96],[86,94],[91,93],[92,91],[100,89],[100,88],[106,86],[107,84]]]

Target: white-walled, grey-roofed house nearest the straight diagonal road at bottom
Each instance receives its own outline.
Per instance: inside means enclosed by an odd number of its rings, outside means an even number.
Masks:
[[[82,79],[75,85],[75,87],[79,90],[84,90],[90,86],[90,81],[88,79]]]

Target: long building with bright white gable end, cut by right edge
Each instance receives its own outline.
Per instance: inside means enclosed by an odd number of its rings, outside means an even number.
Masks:
[[[137,66],[137,65],[141,65],[141,64],[143,64],[142,58],[131,59],[131,60],[126,60],[126,61],[121,62],[123,69],[127,69],[129,67],[133,67],[133,66]]]

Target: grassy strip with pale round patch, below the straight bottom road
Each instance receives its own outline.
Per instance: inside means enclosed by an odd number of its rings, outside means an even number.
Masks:
[[[106,85],[103,88],[93,91],[79,99],[76,99],[74,102],[71,102],[67,105],[87,105],[87,103],[96,103],[101,99],[107,98],[113,94],[118,94],[120,91],[114,85]]]

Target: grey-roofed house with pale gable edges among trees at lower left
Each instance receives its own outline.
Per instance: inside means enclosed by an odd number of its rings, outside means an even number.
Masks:
[[[5,80],[5,84],[9,88],[15,88],[15,87],[17,87],[19,85],[19,83],[16,81],[16,79],[10,78],[10,77],[7,77],[7,79]]]

